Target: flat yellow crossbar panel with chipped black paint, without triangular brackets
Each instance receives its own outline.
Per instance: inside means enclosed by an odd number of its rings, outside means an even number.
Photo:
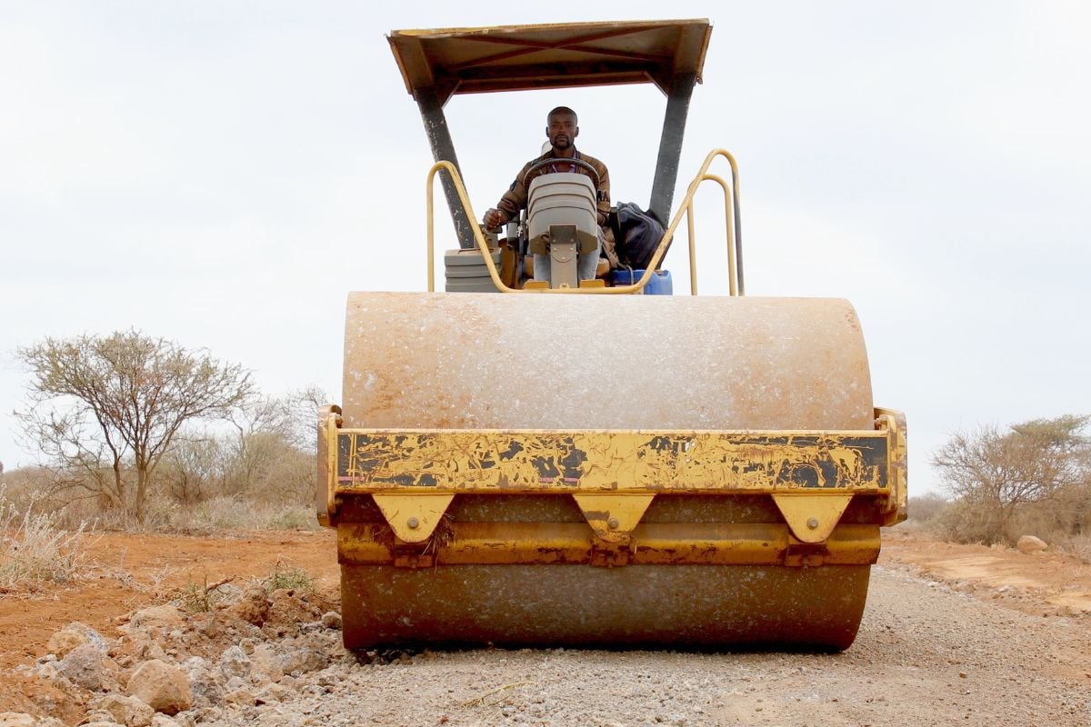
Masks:
[[[337,434],[338,492],[859,492],[887,488],[882,432]]]

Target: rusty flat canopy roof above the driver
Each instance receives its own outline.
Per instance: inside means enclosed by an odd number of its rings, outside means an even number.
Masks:
[[[387,40],[406,89],[446,104],[455,94],[702,81],[708,20],[501,25],[393,31]]]

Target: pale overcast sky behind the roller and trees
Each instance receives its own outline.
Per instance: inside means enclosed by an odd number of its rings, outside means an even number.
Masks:
[[[0,461],[33,461],[13,351],[45,336],[136,327],[339,398],[346,293],[425,287],[431,156],[385,33],[669,16],[714,23],[675,201],[735,154],[747,292],[853,302],[911,492],[959,428],[1091,413],[1086,3],[0,0]],[[479,217],[558,104],[647,204],[651,86],[455,97]]]

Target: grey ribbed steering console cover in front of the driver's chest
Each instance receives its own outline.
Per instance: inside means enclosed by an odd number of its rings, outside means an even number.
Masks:
[[[531,247],[536,241],[549,239],[551,225],[574,225],[580,250],[598,244],[598,214],[595,185],[587,174],[553,172],[535,178],[527,194],[527,237]]]

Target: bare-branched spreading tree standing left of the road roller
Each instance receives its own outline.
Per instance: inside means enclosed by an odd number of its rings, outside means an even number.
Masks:
[[[15,412],[26,437],[82,472],[72,487],[140,521],[183,426],[226,419],[256,395],[241,366],[136,330],[46,338],[16,356],[31,373],[26,407]]]

